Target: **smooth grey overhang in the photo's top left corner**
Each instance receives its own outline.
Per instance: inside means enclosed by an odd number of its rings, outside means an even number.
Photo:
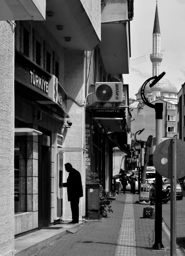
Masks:
[[[45,20],[46,0],[1,0],[0,20]]]

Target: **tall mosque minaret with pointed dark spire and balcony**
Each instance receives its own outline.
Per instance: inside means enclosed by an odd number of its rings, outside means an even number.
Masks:
[[[150,54],[150,60],[152,62],[152,76],[159,76],[160,66],[163,55],[161,54],[161,32],[159,26],[158,15],[158,1],[156,1],[155,20],[153,26],[153,53]],[[152,88],[152,101],[157,99],[157,96],[161,95],[162,82],[159,81]]]

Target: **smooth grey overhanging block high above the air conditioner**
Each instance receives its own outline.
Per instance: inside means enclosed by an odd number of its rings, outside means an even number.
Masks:
[[[128,22],[101,24],[99,48],[107,74],[129,73]]]

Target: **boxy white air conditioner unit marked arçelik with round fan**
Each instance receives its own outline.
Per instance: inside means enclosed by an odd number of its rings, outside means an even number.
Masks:
[[[96,82],[95,102],[123,102],[122,82]]]

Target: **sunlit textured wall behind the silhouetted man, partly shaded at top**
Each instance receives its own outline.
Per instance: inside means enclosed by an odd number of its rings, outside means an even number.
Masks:
[[[67,111],[72,122],[70,129],[64,129],[64,147],[70,148],[85,148],[85,79],[84,79],[84,53],[75,51],[64,51],[64,84],[66,92],[70,95],[70,100],[67,101]],[[85,153],[83,152],[66,152],[64,153],[64,163],[70,162],[72,166],[81,174],[82,181],[85,186],[85,168],[83,160]],[[64,174],[64,181],[67,180],[67,172]],[[67,200],[67,190],[64,189],[63,195],[65,198],[63,220],[71,220],[70,202]],[[79,218],[81,219],[81,205],[84,197],[79,203]]]

